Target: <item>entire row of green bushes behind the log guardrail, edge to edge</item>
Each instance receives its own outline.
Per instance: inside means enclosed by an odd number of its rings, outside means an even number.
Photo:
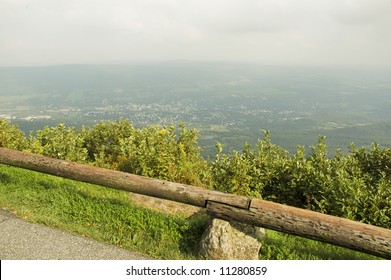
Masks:
[[[81,131],[45,127],[25,139],[14,125],[0,121],[0,146],[113,168],[134,174],[260,197],[352,220],[391,228],[391,149],[351,146],[330,157],[325,137],[306,154],[292,155],[274,145],[268,132],[256,149],[205,160],[198,132],[183,124],[134,128],[127,120],[100,122]]]

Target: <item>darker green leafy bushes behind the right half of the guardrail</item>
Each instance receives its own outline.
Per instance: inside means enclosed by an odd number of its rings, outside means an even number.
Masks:
[[[268,133],[257,148],[245,145],[242,153],[226,155],[217,144],[211,163],[214,187],[391,228],[389,148],[374,144],[368,152],[352,146],[347,155],[337,150],[329,157],[320,136],[308,157],[302,146],[289,156]]]

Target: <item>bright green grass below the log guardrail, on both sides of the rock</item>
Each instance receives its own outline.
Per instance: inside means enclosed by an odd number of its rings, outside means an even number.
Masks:
[[[205,215],[185,218],[134,205],[124,191],[0,165],[0,207],[22,219],[157,259],[197,259]],[[375,259],[268,230],[262,259]]]

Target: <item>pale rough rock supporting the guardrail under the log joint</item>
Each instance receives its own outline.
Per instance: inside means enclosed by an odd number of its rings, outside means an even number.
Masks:
[[[258,260],[264,236],[263,228],[211,219],[201,238],[199,254],[209,260]]]

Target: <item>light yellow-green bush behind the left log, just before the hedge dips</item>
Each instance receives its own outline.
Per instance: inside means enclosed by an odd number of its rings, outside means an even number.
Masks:
[[[196,146],[197,132],[180,127],[156,127],[137,131],[121,140],[119,170],[185,184],[205,186],[207,163]]]

